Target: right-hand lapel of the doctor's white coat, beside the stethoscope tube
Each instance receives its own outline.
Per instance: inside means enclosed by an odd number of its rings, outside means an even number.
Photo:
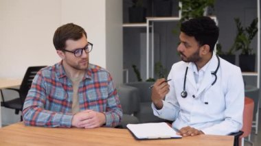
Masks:
[[[196,93],[196,97],[198,97],[198,95],[200,95],[203,92],[203,90],[209,88],[209,86],[212,86],[211,84],[214,81],[214,78],[212,77],[212,72],[216,71],[216,67],[218,66],[218,60],[216,56],[213,55],[212,59],[209,61],[209,66],[207,66],[201,85],[199,86],[198,92]]]

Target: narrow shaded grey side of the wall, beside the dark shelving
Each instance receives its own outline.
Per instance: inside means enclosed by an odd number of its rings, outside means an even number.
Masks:
[[[106,1],[106,67],[115,83],[123,82],[122,0]],[[115,77],[118,75],[118,77]]]

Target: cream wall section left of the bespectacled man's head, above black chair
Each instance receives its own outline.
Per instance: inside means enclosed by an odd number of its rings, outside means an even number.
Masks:
[[[60,1],[0,0],[0,77],[22,78],[27,66],[59,60],[52,36]]]

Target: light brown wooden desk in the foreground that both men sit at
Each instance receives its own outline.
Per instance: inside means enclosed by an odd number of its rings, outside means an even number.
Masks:
[[[199,135],[180,139],[137,141],[128,130],[27,127],[15,123],[0,129],[0,145],[230,145],[234,136]]]

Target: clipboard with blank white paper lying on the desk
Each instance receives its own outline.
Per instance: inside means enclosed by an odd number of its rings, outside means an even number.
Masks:
[[[167,123],[128,124],[128,130],[137,140],[182,138]]]

